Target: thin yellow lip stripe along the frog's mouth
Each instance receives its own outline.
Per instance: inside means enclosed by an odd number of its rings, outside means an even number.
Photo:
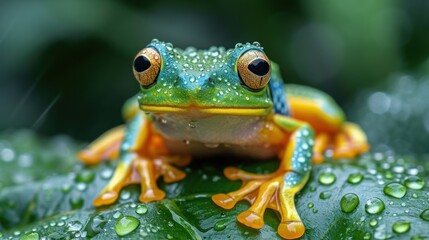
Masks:
[[[150,113],[186,113],[196,111],[202,114],[213,115],[235,115],[235,116],[265,116],[269,113],[269,108],[234,108],[234,107],[173,107],[159,105],[141,105],[144,112]]]

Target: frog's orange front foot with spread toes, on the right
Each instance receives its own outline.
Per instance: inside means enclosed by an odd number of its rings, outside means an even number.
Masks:
[[[280,236],[295,239],[304,234],[305,227],[295,209],[294,196],[304,186],[308,176],[280,171],[259,175],[232,167],[226,168],[224,173],[231,180],[242,180],[243,185],[237,191],[213,195],[212,200],[224,209],[233,208],[240,200],[250,202],[251,207],[237,216],[240,223],[261,229],[264,226],[265,209],[271,208],[281,215],[278,227]],[[294,181],[288,182],[288,179]]]

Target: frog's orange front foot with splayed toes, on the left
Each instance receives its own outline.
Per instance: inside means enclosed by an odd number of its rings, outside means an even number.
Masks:
[[[177,182],[186,177],[186,173],[175,166],[184,166],[190,162],[190,157],[162,157],[157,159],[147,159],[135,157],[131,161],[121,161],[118,163],[115,174],[110,182],[103,189],[100,195],[94,200],[96,207],[114,203],[121,189],[130,184],[141,185],[139,200],[141,202],[151,202],[161,200],[165,197],[165,192],[158,188],[156,180],[163,177],[167,183]]]

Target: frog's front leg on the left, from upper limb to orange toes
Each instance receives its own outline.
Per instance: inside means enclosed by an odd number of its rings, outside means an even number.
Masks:
[[[165,197],[165,192],[156,184],[159,177],[163,176],[168,183],[186,177],[173,165],[186,165],[190,157],[169,155],[164,139],[153,130],[151,121],[144,113],[137,114],[127,125],[120,151],[116,171],[94,200],[95,206],[115,202],[124,186],[135,183],[141,184],[140,201],[160,200]]]

